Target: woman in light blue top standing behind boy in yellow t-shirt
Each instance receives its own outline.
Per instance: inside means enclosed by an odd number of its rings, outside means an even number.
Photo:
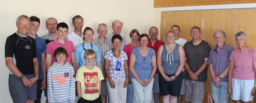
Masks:
[[[84,29],[84,33],[83,33],[84,42],[83,42],[83,44],[79,45],[75,49],[77,67],[79,68],[79,67],[86,64],[85,60],[84,60],[84,51],[86,49],[92,49],[96,52],[96,56],[97,56],[97,59],[93,63],[93,65],[99,67],[100,70],[102,71],[101,63],[100,63],[100,51],[99,51],[99,48],[97,46],[95,46],[91,43],[92,38],[93,38],[92,28],[91,27],[86,27]]]

